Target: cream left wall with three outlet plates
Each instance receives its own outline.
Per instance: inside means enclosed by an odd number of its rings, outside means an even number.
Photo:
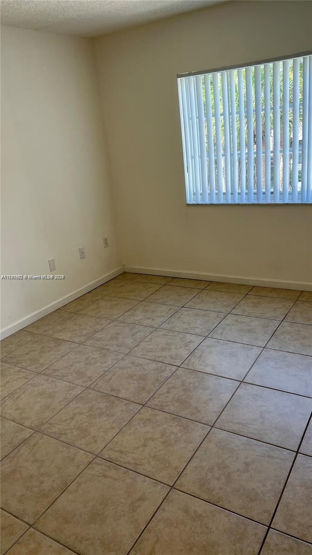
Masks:
[[[2,328],[120,266],[93,46],[2,28]]]

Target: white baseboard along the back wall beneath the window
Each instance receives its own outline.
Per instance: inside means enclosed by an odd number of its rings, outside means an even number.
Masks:
[[[247,285],[260,285],[262,287],[281,287],[282,289],[295,289],[297,291],[312,291],[312,283],[308,281],[286,281],[271,278],[248,278],[246,276],[228,276],[222,274],[204,274],[186,272],[182,270],[163,270],[159,268],[140,268],[138,266],[124,266],[125,272],[138,274],[161,275],[172,278],[202,279],[208,281],[224,281],[225,283],[241,283]]]

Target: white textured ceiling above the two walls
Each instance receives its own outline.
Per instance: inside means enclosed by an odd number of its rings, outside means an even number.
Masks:
[[[97,37],[222,1],[225,0],[1,0],[1,23]]]

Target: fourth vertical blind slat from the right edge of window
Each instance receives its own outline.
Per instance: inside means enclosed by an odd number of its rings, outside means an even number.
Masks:
[[[283,203],[289,188],[289,60],[283,62]]]

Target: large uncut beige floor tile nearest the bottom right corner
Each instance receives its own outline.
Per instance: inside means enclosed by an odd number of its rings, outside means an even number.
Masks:
[[[294,452],[213,428],[175,487],[269,524],[294,457]]]

